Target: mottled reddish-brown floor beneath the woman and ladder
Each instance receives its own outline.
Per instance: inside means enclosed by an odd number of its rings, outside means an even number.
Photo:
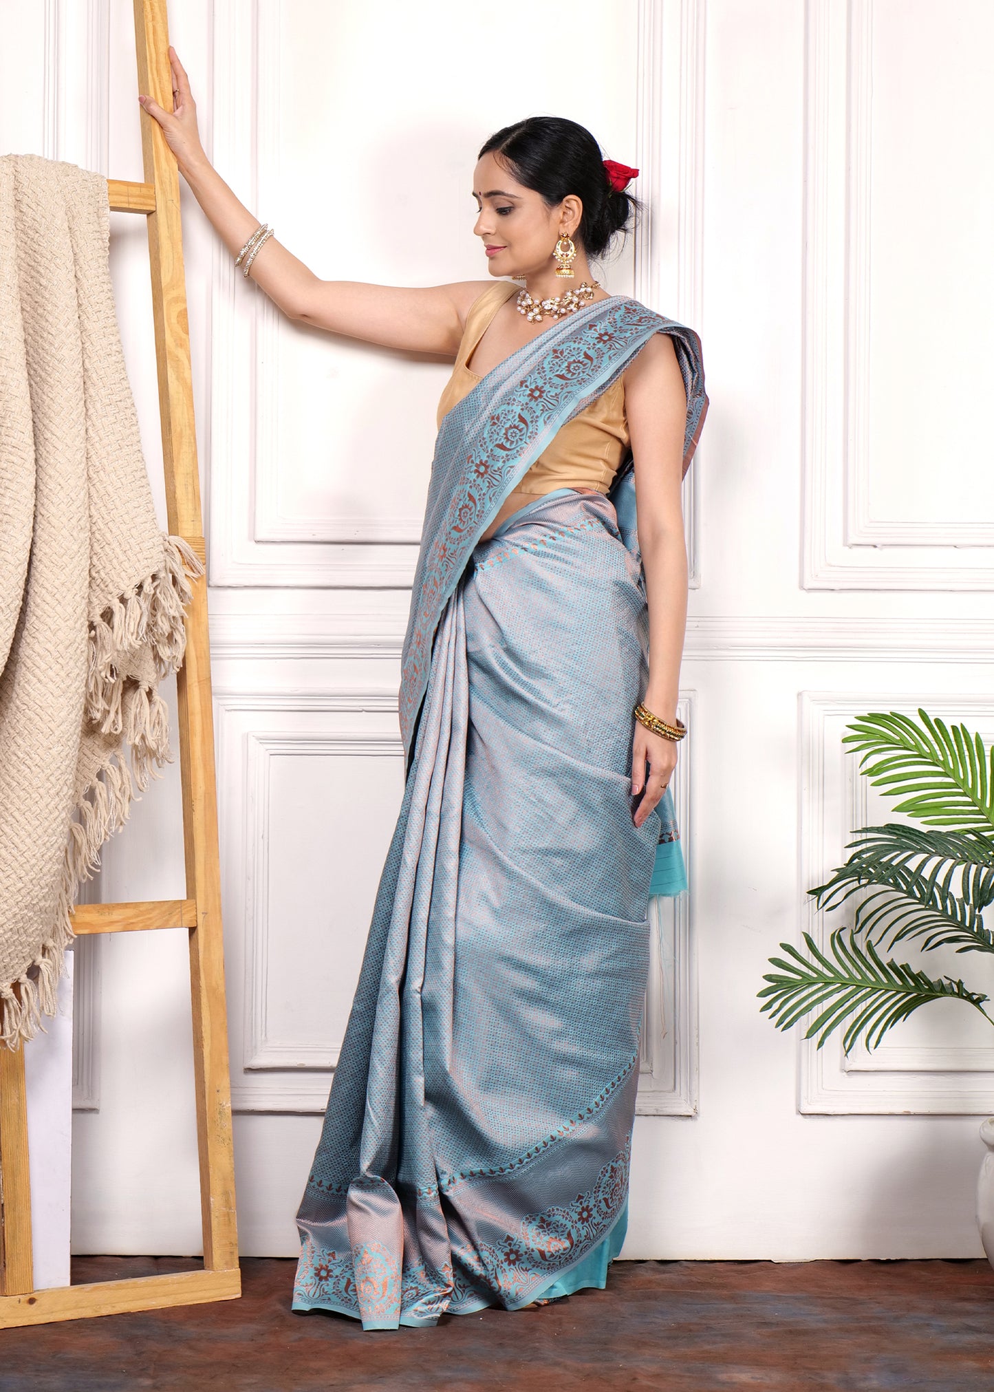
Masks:
[[[74,1281],[191,1265],[86,1257]],[[621,1261],[607,1290],[395,1334],[292,1314],[291,1261],[242,1271],[241,1300],[0,1334],[0,1392],[994,1388],[983,1261]]]

